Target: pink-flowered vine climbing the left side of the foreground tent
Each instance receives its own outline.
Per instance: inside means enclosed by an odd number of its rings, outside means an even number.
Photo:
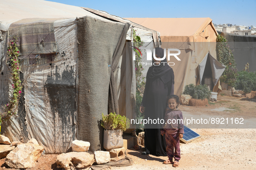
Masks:
[[[16,47],[16,42],[17,38],[14,37],[13,40],[10,41],[9,46],[7,47],[6,65],[12,75],[13,96],[10,98],[9,103],[0,107],[0,125],[3,120],[8,120],[11,116],[16,114],[22,89],[21,80],[19,79],[19,49],[18,47]]]

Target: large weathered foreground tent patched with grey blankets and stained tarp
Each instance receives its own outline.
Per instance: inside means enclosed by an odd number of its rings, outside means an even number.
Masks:
[[[135,116],[132,28],[143,41],[159,32],[106,12],[44,0],[2,0],[0,6],[0,104],[12,82],[6,50],[13,36],[21,52],[24,86],[18,115],[2,123],[11,141],[37,139],[46,153],[68,151],[75,139],[103,149],[101,113]]]

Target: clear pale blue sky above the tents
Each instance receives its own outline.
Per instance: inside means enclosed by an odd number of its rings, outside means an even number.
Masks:
[[[256,0],[48,0],[106,11],[122,18],[205,18],[256,27]]]

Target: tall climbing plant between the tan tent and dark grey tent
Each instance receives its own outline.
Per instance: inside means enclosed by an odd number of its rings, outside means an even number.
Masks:
[[[216,53],[217,60],[226,66],[225,71],[220,76],[220,81],[233,86],[237,78],[237,63],[233,56],[233,51],[230,50],[227,39],[222,35],[217,35]]]

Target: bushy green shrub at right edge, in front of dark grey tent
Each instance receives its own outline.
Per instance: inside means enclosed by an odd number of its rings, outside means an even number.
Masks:
[[[238,72],[235,89],[243,90],[245,93],[256,91],[256,72]]]

